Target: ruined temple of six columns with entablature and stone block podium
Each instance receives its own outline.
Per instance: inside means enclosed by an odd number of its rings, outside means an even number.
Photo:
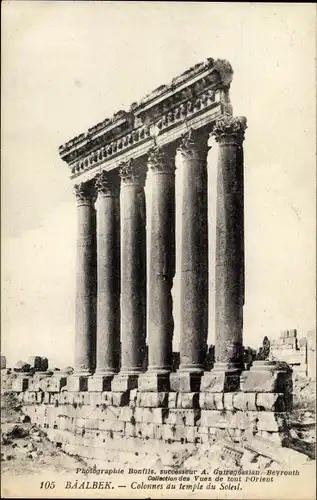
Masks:
[[[254,456],[267,463],[282,460],[278,453],[272,456],[268,443],[279,446],[288,438],[292,370],[265,359],[249,370],[244,365],[247,125],[232,113],[232,76],[227,61],[210,58],[59,149],[78,211],[74,373],[21,373],[12,390],[31,420],[65,451],[104,459],[105,449],[109,458],[133,450],[136,442],[150,453],[156,443],[200,446],[226,436],[230,456],[242,456],[252,441]],[[210,136],[219,145],[217,165],[207,165]],[[217,168],[215,262],[208,262],[209,168]],[[176,253],[181,336],[180,364],[173,371]],[[211,266],[216,343],[215,363],[206,370]]]

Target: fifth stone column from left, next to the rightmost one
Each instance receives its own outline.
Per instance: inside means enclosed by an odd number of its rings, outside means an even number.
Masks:
[[[199,390],[207,349],[209,134],[190,130],[182,138],[182,236],[180,242],[180,367],[172,373],[174,391]]]

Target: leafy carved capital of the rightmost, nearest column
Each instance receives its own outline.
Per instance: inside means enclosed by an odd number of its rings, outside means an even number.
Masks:
[[[228,142],[242,144],[246,128],[247,119],[245,116],[225,115],[215,122],[212,135],[219,144]]]

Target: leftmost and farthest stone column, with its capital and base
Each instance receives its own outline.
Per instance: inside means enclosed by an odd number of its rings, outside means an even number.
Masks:
[[[96,349],[96,200],[93,183],[74,188],[77,199],[77,274],[75,367],[68,390],[87,390],[87,377],[95,366]]]

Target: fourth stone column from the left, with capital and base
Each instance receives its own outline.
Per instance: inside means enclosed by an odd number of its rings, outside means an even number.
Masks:
[[[148,279],[148,370],[139,378],[140,391],[169,390],[173,362],[175,275],[175,146],[149,153],[151,220]]]

